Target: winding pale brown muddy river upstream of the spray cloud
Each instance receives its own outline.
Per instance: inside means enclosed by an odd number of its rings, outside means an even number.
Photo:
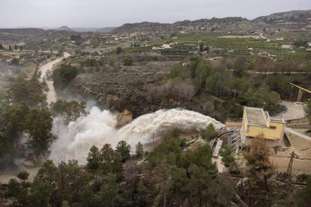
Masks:
[[[64,58],[68,58],[69,56],[70,56],[69,53],[64,52]],[[53,60],[53,61],[43,65],[39,69],[39,71],[41,72],[40,79],[39,79],[40,82],[44,81],[45,73],[48,70],[52,70],[53,65],[59,63],[62,60],[63,60],[63,58],[57,58],[56,60]],[[46,82],[47,87],[48,87],[48,91],[44,92],[46,94],[46,101],[47,101],[47,103],[50,104],[51,102],[56,102],[57,98],[56,98],[56,93],[55,93],[54,86],[53,86],[53,81],[52,80],[45,80],[45,82]]]

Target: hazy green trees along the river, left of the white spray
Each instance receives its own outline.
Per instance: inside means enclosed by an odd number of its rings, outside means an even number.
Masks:
[[[57,73],[65,83],[71,80],[71,72],[74,71],[72,68],[67,69]],[[1,169],[12,164],[15,157],[27,157],[30,161],[39,163],[42,156],[49,153],[51,143],[57,139],[52,134],[53,118],[68,124],[79,116],[86,115],[85,102],[58,100],[48,107],[44,87],[45,84],[39,82],[37,71],[30,79],[22,72],[11,79],[7,96],[0,103]],[[21,145],[20,139],[25,134],[26,144]]]

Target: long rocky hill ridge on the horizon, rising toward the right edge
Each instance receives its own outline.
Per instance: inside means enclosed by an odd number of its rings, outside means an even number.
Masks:
[[[203,32],[203,31],[254,31],[270,29],[288,30],[311,30],[311,10],[297,10],[270,14],[268,16],[257,17],[248,20],[242,17],[226,17],[199,20],[184,20],[173,24],[163,24],[154,22],[141,22],[124,24],[113,30],[116,34],[144,33],[148,35],[158,35],[163,33],[176,32]]]

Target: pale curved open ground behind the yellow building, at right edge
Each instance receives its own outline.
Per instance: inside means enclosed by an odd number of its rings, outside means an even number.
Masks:
[[[288,108],[286,113],[280,114],[280,116],[285,120],[300,119],[306,116],[304,106],[302,104],[282,101],[282,105],[285,105]]]

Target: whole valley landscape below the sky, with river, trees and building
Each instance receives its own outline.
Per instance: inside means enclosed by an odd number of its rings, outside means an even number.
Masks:
[[[311,10],[0,29],[0,206],[307,207],[310,99]]]

